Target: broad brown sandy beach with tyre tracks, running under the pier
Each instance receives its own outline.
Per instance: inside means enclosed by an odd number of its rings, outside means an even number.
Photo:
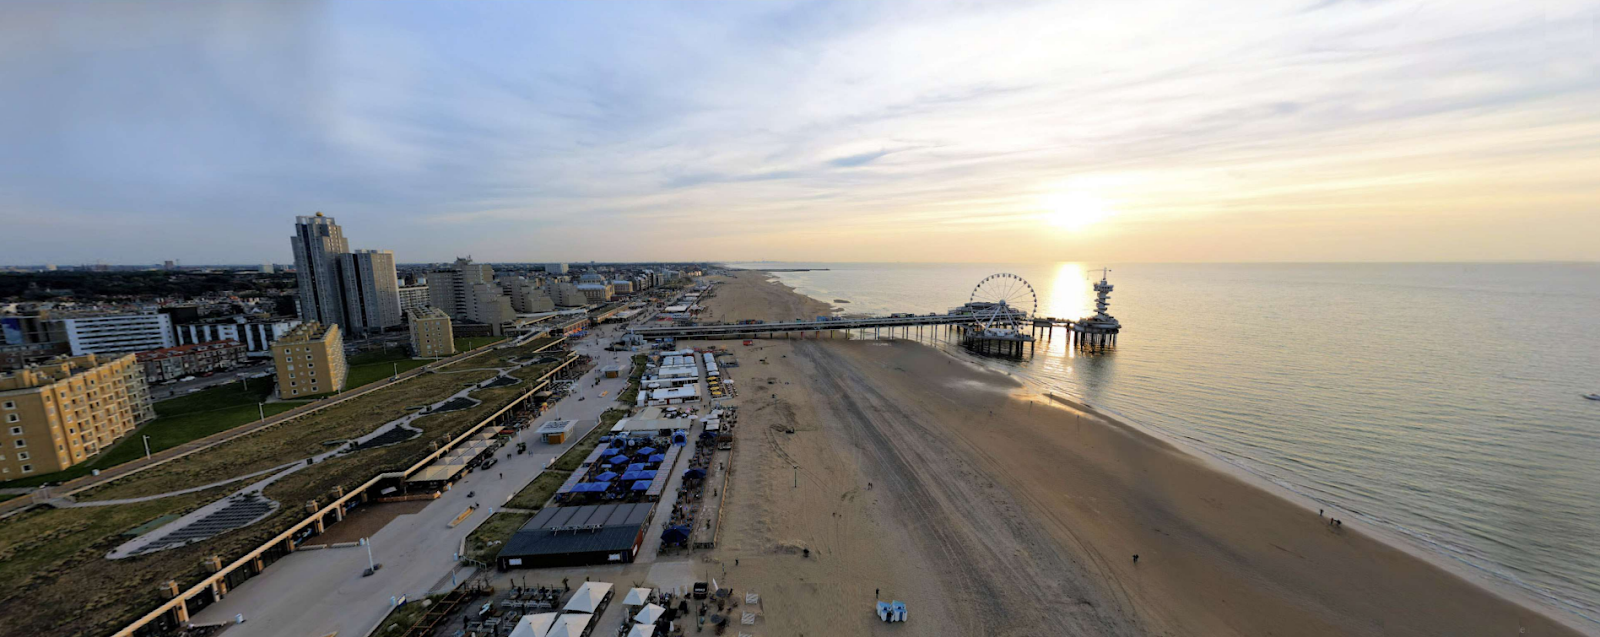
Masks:
[[[707,304],[720,320],[829,312],[762,272]],[[1579,634],[934,349],[718,344],[741,359],[741,442],[707,559],[763,595],[763,634]],[[875,592],[912,624],[880,624]]]

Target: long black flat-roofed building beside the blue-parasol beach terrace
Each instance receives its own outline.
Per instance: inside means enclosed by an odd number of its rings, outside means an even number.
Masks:
[[[506,541],[501,570],[634,562],[654,503],[547,507]]]

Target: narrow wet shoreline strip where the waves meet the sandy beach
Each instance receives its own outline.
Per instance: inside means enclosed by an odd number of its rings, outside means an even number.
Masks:
[[[750,272],[750,274],[757,274],[757,272]],[[787,283],[782,283],[773,274],[758,272],[758,275],[763,277],[763,278],[766,278],[768,285],[781,288],[781,290],[787,291],[789,294],[805,296],[805,294],[800,294],[798,291],[795,291]],[[805,296],[805,298],[810,299],[810,301],[819,302],[819,304],[826,304],[824,299],[813,299],[810,296]],[[894,341],[891,341],[891,343],[894,343]],[[910,341],[907,341],[907,343],[910,343]],[[918,344],[918,347],[923,347],[923,346]],[[1144,437],[1147,437],[1149,440],[1152,440],[1155,443],[1171,447],[1173,450],[1182,453],[1189,459],[1202,463],[1208,471],[1221,474],[1221,475],[1226,475],[1226,477],[1229,477],[1232,480],[1238,480],[1238,482],[1242,482],[1242,483],[1245,483],[1245,485],[1248,485],[1248,487],[1261,491],[1262,495],[1274,498],[1278,504],[1290,504],[1296,511],[1315,514],[1318,511],[1318,507],[1323,507],[1323,509],[1330,507],[1325,503],[1318,503],[1318,501],[1315,501],[1310,496],[1306,496],[1306,495],[1301,495],[1301,493],[1294,491],[1290,485],[1278,483],[1275,479],[1272,479],[1269,475],[1258,474],[1258,472],[1251,471],[1250,467],[1235,464],[1235,463],[1232,463],[1232,461],[1229,461],[1226,458],[1218,458],[1214,453],[1210,453],[1205,448],[1195,445],[1194,442],[1184,440],[1182,437],[1168,434],[1168,432],[1160,431],[1160,429],[1141,426],[1139,423],[1131,421],[1128,418],[1123,418],[1122,415],[1117,415],[1117,413],[1107,411],[1107,410],[1101,410],[1101,408],[1098,408],[1094,405],[1085,403],[1085,402],[1077,400],[1074,397],[1056,394],[1056,392],[1050,392],[1050,391],[1046,391],[1043,387],[1038,387],[1034,383],[1029,383],[1027,379],[1024,379],[1021,376],[1016,376],[1016,375],[1011,375],[1011,373],[1000,373],[1000,371],[995,371],[995,370],[989,370],[987,367],[981,365],[979,362],[962,360],[960,357],[955,357],[955,355],[952,355],[949,352],[944,352],[939,347],[925,347],[925,349],[928,349],[930,352],[933,352],[933,354],[936,354],[939,357],[949,359],[952,362],[958,362],[963,367],[968,367],[971,370],[976,370],[976,371],[981,371],[981,373],[989,373],[989,375],[1003,375],[1003,376],[1010,378],[1013,383],[1016,383],[1019,386],[1019,387],[1016,387],[1016,391],[1011,392],[1013,394],[1011,399],[1016,400],[1016,402],[1022,402],[1022,403],[1040,402],[1040,403],[1045,403],[1045,405],[1051,405],[1051,407],[1054,407],[1058,410],[1062,410],[1062,413],[1080,411],[1080,413],[1090,415],[1093,419],[1102,421],[1107,427],[1117,427],[1117,429],[1122,429],[1122,431],[1130,432],[1130,434],[1142,434]],[[1021,395],[1016,395],[1016,394],[1021,394]],[[1051,399],[1051,395],[1054,399]],[[1437,552],[1437,551],[1429,551],[1426,546],[1416,546],[1414,541],[1408,539],[1400,531],[1389,530],[1389,528],[1382,527],[1381,523],[1368,522],[1365,514],[1349,512],[1349,511],[1344,511],[1344,509],[1339,509],[1339,507],[1331,507],[1331,509],[1334,511],[1333,512],[1334,517],[1346,517],[1346,515],[1352,517],[1350,523],[1346,523],[1346,528],[1349,530],[1349,533],[1355,533],[1355,535],[1365,536],[1365,539],[1371,541],[1376,546],[1381,546],[1384,549],[1403,554],[1405,557],[1408,557],[1411,560],[1416,560],[1416,562],[1419,562],[1424,567],[1430,567],[1430,568],[1437,570],[1438,573],[1442,573],[1442,575],[1445,575],[1448,578],[1459,579],[1462,584],[1470,586],[1470,587],[1477,589],[1478,592],[1486,594],[1488,597],[1493,597],[1494,600],[1514,605],[1514,607],[1517,607],[1517,608],[1520,608],[1522,611],[1526,611],[1526,613],[1536,613],[1536,615],[1549,619],[1550,623],[1555,623],[1560,627],[1565,627],[1568,631],[1579,632],[1579,634],[1582,634],[1582,632],[1594,632],[1595,631],[1595,627],[1592,624],[1586,623],[1581,615],[1578,615],[1574,611],[1570,611],[1570,610],[1565,610],[1565,608],[1560,608],[1558,607],[1558,600],[1542,599],[1534,591],[1530,591],[1528,587],[1517,586],[1515,583],[1510,583],[1510,581],[1504,581],[1498,573],[1488,571],[1483,567],[1477,567],[1477,565],[1467,563],[1467,562],[1459,560],[1459,559],[1456,559],[1456,557],[1453,557],[1450,554],[1443,554],[1443,552]]]

